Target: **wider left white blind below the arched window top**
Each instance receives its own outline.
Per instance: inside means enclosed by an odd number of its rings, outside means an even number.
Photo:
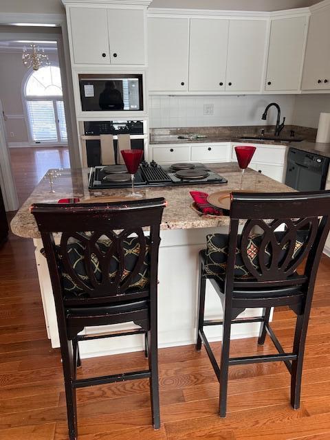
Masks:
[[[32,139],[35,142],[57,142],[53,101],[28,100],[26,104]]]

